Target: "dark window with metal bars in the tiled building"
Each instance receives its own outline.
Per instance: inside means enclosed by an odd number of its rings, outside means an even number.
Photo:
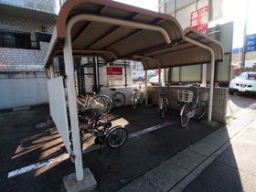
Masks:
[[[0,31],[0,47],[2,48],[39,48],[37,41],[31,41],[29,33]]]

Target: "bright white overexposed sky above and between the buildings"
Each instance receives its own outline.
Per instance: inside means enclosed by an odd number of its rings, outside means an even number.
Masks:
[[[149,9],[152,11],[158,11],[158,0],[115,0],[123,4],[134,5]],[[247,2],[248,10],[247,10]],[[256,0],[224,0],[222,11],[223,18],[210,22],[209,27],[215,26],[217,23],[224,24],[230,21],[234,21],[233,32],[233,48],[241,48],[243,45],[243,32],[244,21],[247,16],[247,35],[256,34],[255,24],[255,8]],[[248,14],[246,14],[248,13]]]

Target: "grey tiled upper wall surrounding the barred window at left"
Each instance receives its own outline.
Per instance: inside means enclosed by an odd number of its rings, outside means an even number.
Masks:
[[[28,32],[35,41],[35,33],[41,32],[46,26],[51,34],[54,26],[47,23],[21,19],[10,16],[0,16],[0,30]],[[0,71],[45,71],[44,59],[48,51],[48,43],[40,42],[40,49],[0,48]]]

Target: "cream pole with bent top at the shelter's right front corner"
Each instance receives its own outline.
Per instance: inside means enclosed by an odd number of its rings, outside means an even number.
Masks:
[[[208,98],[208,122],[211,121],[211,112],[212,112],[212,101],[213,101],[213,80],[214,80],[214,62],[215,62],[215,55],[212,48],[197,42],[189,37],[185,37],[187,42],[192,43],[200,48],[205,48],[210,52],[211,59],[210,59],[210,80],[209,80],[209,98]]]

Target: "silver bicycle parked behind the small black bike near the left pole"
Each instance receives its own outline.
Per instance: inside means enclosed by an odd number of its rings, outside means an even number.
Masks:
[[[112,109],[112,100],[106,95],[96,95],[95,92],[86,92],[87,96],[79,95],[77,97],[78,109],[87,111],[93,109],[95,112],[108,113]]]

